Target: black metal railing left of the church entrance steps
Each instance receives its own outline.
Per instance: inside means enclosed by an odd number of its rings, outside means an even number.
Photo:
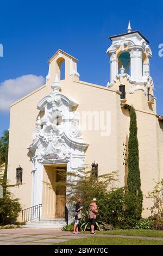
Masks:
[[[26,225],[26,222],[39,220],[40,221],[40,211],[42,204],[37,204],[27,209],[22,210],[22,225]]]

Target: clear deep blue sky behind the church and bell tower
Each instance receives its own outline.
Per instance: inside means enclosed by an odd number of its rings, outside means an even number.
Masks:
[[[151,76],[158,113],[163,115],[163,1],[3,1],[0,4],[0,83],[23,75],[45,77],[47,60],[61,48],[79,59],[80,80],[109,81],[108,36],[127,32],[128,20],[149,41]],[[40,78],[41,79],[41,78]],[[11,88],[12,90],[12,88]],[[0,135],[9,128],[9,112],[0,112]]]

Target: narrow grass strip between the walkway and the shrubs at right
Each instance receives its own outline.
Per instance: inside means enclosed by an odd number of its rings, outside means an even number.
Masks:
[[[153,229],[115,229],[108,231],[96,231],[98,234],[110,235],[133,235],[133,236],[150,236],[150,237],[163,237],[163,230]]]

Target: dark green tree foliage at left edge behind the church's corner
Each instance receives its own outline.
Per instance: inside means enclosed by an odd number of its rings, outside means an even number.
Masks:
[[[5,130],[0,138],[0,166],[5,164],[3,179],[7,179],[9,131]]]

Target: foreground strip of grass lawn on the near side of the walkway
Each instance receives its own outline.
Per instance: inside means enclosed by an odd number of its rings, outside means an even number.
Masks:
[[[163,245],[163,241],[121,237],[87,237],[55,243],[54,245]]]

